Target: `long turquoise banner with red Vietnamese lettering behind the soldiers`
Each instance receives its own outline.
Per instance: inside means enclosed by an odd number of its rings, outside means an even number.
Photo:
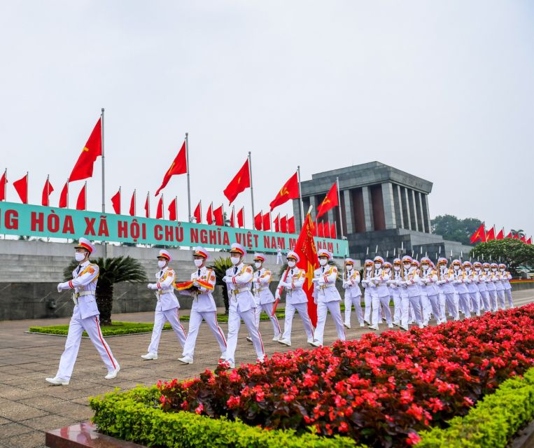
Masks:
[[[43,238],[86,237],[118,243],[160,244],[164,246],[205,246],[230,248],[237,242],[247,251],[276,252],[295,247],[298,235],[258,230],[217,227],[195,223],[165,221],[94,211],[59,209],[38,205],[0,202],[0,233]],[[335,257],[349,253],[346,240],[316,238],[317,248],[326,248]]]

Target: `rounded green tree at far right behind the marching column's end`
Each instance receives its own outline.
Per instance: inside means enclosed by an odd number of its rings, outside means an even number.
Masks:
[[[521,265],[534,266],[534,246],[519,239],[493,239],[480,243],[472,249],[472,258],[484,261],[503,262],[510,267],[512,275],[517,276],[517,268]]]

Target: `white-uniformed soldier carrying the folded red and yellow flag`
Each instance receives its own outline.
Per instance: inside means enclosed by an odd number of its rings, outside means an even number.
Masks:
[[[213,300],[213,289],[215,288],[216,276],[213,269],[206,267],[206,260],[208,260],[208,251],[201,246],[193,248],[193,262],[195,262],[195,272],[191,274],[192,285],[197,289],[181,290],[183,295],[192,295],[193,302],[191,306],[191,314],[189,316],[189,331],[188,337],[185,339],[183,346],[182,357],[178,358],[184,364],[193,363],[193,355],[195,353],[195,344],[197,343],[198,330],[202,319],[206,321],[209,329],[217,339],[220,349],[220,359],[225,359],[226,356],[226,339],[223,330],[220,329],[217,322],[217,307],[215,300]]]

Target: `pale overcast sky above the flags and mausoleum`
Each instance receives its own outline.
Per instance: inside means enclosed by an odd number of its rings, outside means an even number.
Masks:
[[[0,169],[29,170],[30,202],[50,174],[57,204],[105,107],[123,209],[189,132],[192,207],[223,202],[248,151],[257,211],[297,165],[379,160],[434,183],[431,216],[534,233],[532,1],[3,1],[0,50]],[[185,176],[164,195],[185,219]]]

